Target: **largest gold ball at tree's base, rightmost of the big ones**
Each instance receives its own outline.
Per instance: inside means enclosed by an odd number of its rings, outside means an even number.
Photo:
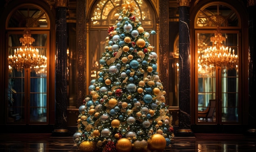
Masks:
[[[153,134],[148,139],[148,149],[157,152],[161,152],[166,147],[166,140],[162,134]]]

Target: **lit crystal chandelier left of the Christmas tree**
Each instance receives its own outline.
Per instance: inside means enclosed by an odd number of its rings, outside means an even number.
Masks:
[[[31,37],[30,30],[26,28],[23,37],[20,37],[22,46],[14,50],[14,55],[8,57],[9,70],[15,68],[20,71],[22,68],[30,68],[36,71],[47,67],[47,57],[38,54],[38,49],[32,46],[33,42],[35,39]]]

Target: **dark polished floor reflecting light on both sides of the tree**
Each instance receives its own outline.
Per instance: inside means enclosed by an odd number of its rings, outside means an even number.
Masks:
[[[72,136],[0,134],[0,152],[79,152]],[[256,137],[241,134],[195,134],[175,137],[164,152],[256,152]]]

